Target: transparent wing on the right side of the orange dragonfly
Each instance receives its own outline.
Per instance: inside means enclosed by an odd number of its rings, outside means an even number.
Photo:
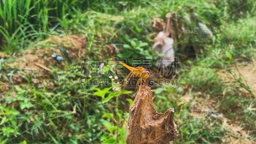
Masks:
[[[176,84],[151,70],[148,71],[150,72],[150,76],[147,79],[148,86],[151,88],[156,87],[154,90],[174,96],[177,96],[178,94],[185,95],[186,91],[179,84]]]

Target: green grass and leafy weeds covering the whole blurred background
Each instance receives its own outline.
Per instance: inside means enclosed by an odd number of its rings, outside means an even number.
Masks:
[[[156,52],[151,45],[153,34],[158,32],[150,20],[175,11],[181,26],[198,27],[191,20],[191,4],[195,7],[193,15],[215,28],[215,34],[212,38],[186,35],[183,47],[175,47],[178,59],[182,51],[189,51],[189,46],[201,48],[201,54],[184,56],[186,59],[178,63],[177,82],[188,92],[184,97],[155,92],[154,106],[162,113],[174,108],[174,122],[179,131],[176,143],[225,143],[227,137],[231,138],[227,134],[231,130],[223,122],[226,119],[242,127],[252,142],[256,141],[255,91],[234,70],[239,67],[237,59],[245,65],[255,62],[254,2],[32,0],[17,5],[16,1],[12,5],[3,2],[0,2],[0,45],[4,53],[13,56],[0,58],[0,143],[125,143],[134,93],[113,97],[116,81],[124,78],[114,78],[117,70],[113,61],[116,57],[125,58],[133,64],[132,58],[151,58],[154,69]],[[31,7],[32,4],[35,6]],[[53,71],[44,78],[33,70],[12,66],[23,50],[57,47],[41,41],[51,34],[38,31],[54,27],[71,28],[72,34],[82,34],[87,39],[86,52],[81,55],[87,62],[77,59],[71,64],[64,63],[64,67],[55,62],[49,66]],[[109,52],[109,46],[115,52]],[[47,54],[39,59],[47,60]],[[102,62],[104,74],[92,73]],[[17,77],[21,77],[20,82]],[[33,82],[35,78],[39,84]],[[195,110],[197,115],[193,114]],[[245,139],[239,134],[233,137]]]

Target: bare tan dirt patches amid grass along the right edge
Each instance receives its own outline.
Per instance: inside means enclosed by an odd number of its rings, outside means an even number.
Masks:
[[[219,71],[219,77],[224,83],[230,82],[231,79],[242,79],[242,82],[250,87],[254,97],[256,97],[256,62],[241,62],[230,66],[230,72]],[[241,89],[246,95],[246,90]],[[247,92],[248,93],[248,92]],[[248,94],[249,95],[249,94]],[[193,98],[186,94],[183,96],[183,103],[191,102]],[[203,102],[201,105],[198,101]],[[228,132],[222,138],[223,143],[229,144],[240,144],[240,143],[255,143],[253,140],[248,139],[248,134],[253,133],[252,131],[247,131],[243,127],[240,127],[238,123],[230,120],[223,116],[222,113],[215,114],[214,106],[218,102],[214,99],[208,99],[198,97],[196,100],[192,101],[194,109],[191,111],[191,115],[195,117],[200,117],[202,114],[211,114],[211,116],[221,120],[222,127],[225,127]]]

